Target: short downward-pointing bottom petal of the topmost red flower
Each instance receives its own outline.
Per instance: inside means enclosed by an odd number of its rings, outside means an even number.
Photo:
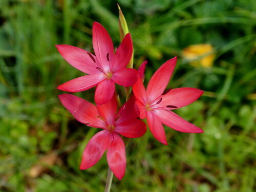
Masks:
[[[94,99],[97,105],[109,102],[115,92],[115,82],[111,79],[106,79],[100,82],[96,88]]]

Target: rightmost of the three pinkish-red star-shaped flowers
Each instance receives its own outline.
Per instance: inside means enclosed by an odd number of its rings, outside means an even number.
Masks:
[[[174,130],[186,133],[203,133],[199,127],[191,124],[172,111],[197,100],[203,91],[195,88],[178,88],[164,91],[173,74],[177,57],[166,61],[152,76],[145,90],[138,77],[133,86],[136,97],[135,108],[141,119],[146,118],[153,136],[167,145],[163,124]]]

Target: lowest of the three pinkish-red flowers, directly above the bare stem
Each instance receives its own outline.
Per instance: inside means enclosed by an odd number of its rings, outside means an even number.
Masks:
[[[80,169],[87,169],[95,165],[106,153],[109,166],[118,179],[125,173],[125,146],[118,134],[125,137],[137,138],[144,135],[146,125],[137,119],[134,109],[135,99],[132,97],[123,104],[116,114],[117,102],[115,97],[111,101],[95,106],[94,104],[71,94],[59,95],[62,104],[81,123],[103,129],[94,135],[87,144]]]

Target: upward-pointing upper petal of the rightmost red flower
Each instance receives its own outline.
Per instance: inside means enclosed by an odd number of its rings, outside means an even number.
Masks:
[[[165,90],[173,74],[176,61],[177,57],[167,60],[151,77],[146,89],[149,102],[155,100]]]

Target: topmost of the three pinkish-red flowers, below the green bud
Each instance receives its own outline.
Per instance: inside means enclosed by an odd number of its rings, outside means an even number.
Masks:
[[[100,105],[111,100],[115,83],[124,87],[133,86],[137,71],[125,68],[133,54],[130,33],[126,34],[114,53],[113,42],[108,32],[99,24],[93,23],[93,48],[95,55],[83,49],[56,45],[59,53],[74,68],[89,75],[81,76],[58,86],[59,90],[80,92],[97,86],[95,102]]]

